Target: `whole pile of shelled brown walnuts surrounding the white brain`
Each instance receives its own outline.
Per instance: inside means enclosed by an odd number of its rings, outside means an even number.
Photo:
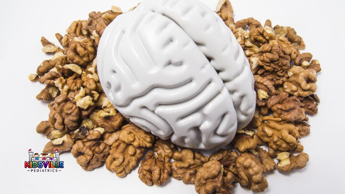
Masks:
[[[97,74],[97,47],[104,29],[121,13],[113,6],[103,13],[91,12],[87,20],[73,21],[66,35],[56,33],[62,47],[41,38],[43,52],[55,54],[29,75],[29,80],[46,85],[36,96],[49,102],[50,109],[48,120],[36,128],[50,139],[44,153],[71,151],[86,171],[105,162],[109,171],[124,177],[150,149],[138,170],[143,183],[160,186],[172,176],[195,184],[198,193],[231,193],[235,183],[263,192],[268,187],[264,173],[306,166],[309,156],[299,139],[310,133],[307,115],[317,113],[319,99],[314,93],[321,68],[312,54],[299,51],[305,44],[293,28],[272,27],[270,20],[262,26],[253,18],[234,22],[230,2],[219,1],[218,15],[249,60],[257,107],[252,122],[237,130],[231,142],[236,150],[222,148],[207,157],[140,129],[104,94]]]

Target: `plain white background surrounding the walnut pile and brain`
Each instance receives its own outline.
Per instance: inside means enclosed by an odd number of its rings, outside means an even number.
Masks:
[[[91,11],[111,5],[123,11],[139,0],[0,1],[0,192],[1,193],[195,193],[194,185],[170,178],[162,187],[148,187],[138,178],[138,166],[125,178],[105,166],[86,172],[70,153],[62,153],[65,168],[57,173],[33,173],[24,169],[27,151],[41,152],[48,142],[36,133],[36,125],[48,119],[47,103],[35,96],[44,85],[31,83],[28,74],[51,58],[41,51],[41,36],[56,45],[54,34],[65,33],[69,24],[87,19]],[[216,8],[218,0],[203,0]],[[344,1],[233,0],[235,21],[254,17],[262,24],[291,26],[306,43],[306,51],[319,59],[316,94],[319,112],[310,117],[311,134],[301,138],[309,154],[307,166],[283,174],[267,173],[266,193],[345,193],[344,171]],[[238,184],[234,193],[251,193]]]

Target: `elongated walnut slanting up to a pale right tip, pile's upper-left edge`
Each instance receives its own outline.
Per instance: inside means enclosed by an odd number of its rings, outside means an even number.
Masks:
[[[44,60],[36,70],[37,75],[43,76],[45,75],[50,69],[57,65],[66,65],[66,55],[63,52],[57,52],[51,59]]]

